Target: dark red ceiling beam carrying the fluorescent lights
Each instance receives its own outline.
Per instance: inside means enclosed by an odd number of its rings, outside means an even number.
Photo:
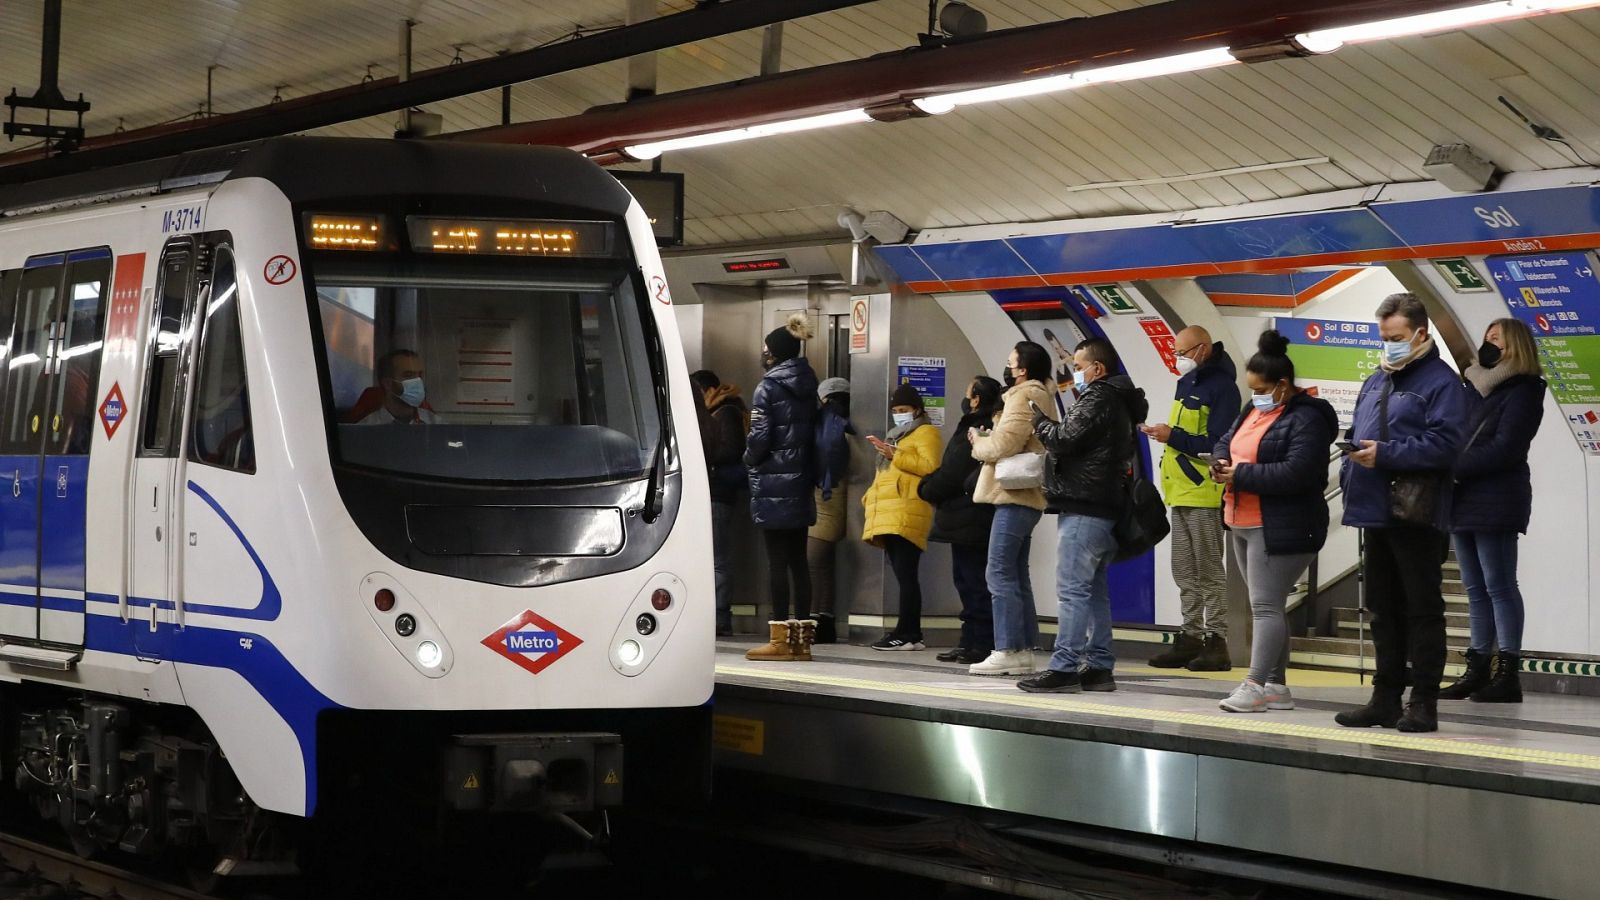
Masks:
[[[550,144],[621,162],[621,147],[866,107],[893,110],[934,93],[1134,62],[1187,50],[1242,48],[1293,34],[1459,8],[1464,0],[1168,0],[1093,18],[955,38],[866,59],[598,106],[581,115],[440,135]],[[901,119],[915,115],[907,112]]]

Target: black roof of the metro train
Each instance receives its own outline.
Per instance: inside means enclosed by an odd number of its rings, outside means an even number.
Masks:
[[[621,216],[632,200],[610,173],[565,147],[272,138],[27,184],[0,186],[0,216],[21,216],[264,178],[294,203],[434,192],[504,197]]]

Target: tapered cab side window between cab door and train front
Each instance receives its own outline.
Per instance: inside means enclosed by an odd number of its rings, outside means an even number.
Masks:
[[[245,343],[238,320],[238,280],[234,253],[216,251],[211,291],[200,323],[200,364],[189,413],[189,458],[238,472],[256,471],[250,432],[250,389],[245,380]]]

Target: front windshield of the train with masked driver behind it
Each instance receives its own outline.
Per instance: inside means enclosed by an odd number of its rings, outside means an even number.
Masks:
[[[626,267],[323,259],[314,283],[344,464],[488,482],[650,471],[661,410]]]

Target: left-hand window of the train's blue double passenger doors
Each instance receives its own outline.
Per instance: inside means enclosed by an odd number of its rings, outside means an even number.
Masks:
[[[6,365],[5,423],[0,452],[38,453],[45,424],[45,364],[56,325],[56,295],[61,291],[62,263],[32,266],[18,285],[16,319],[11,328],[11,359]]]

